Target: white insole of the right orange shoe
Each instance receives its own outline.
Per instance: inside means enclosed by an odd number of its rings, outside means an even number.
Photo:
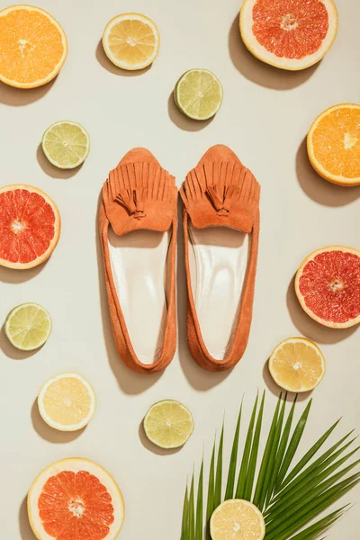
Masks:
[[[238,326],[250,238],[236,229],[195,229],[192,224],[189,238],[193,301],[202,338],[211,356],[222,360]]]

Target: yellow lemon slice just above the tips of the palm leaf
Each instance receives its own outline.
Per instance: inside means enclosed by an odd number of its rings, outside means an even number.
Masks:
[[[269,359],[269,370],[276,384],[288,392],[310,392],[322,381],[325,358],[310,339],[284,339]]]

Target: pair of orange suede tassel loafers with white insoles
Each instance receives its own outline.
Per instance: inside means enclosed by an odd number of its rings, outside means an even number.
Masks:
[[[184,268],[187,336],[210,371],[236,365],[251,325],[260,186],[228,148],[210,148],[186,176]],[[99,228],[112,332],[130,369],[154,374],[176,349],[174,176],[134,148],[103,185]]]

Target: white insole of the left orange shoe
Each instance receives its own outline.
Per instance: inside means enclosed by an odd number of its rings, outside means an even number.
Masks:
[[[109,227],[112,278],[140,362],[152,364],[166,327],[166,256],[170,232],[134,230],[117,236]]]

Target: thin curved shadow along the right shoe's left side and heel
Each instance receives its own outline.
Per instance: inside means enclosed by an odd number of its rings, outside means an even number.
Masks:
[[[187,346],[186,335],[186,320],[187,320],[187,291],[186,291],[186,279],[185,279],[185,266],[184,266],[184,231],[183,231],[183,205],[182,202],[178,202],[177,211],[179,226],[177,236],[177,274],[176,274],[176,300],[177,300],[177,331],[178,331],[178,353],[180,358],[180,365],[183,369],[184,375],[188,382],[194,389],[200,391],[207,391],[222,383],[232,370],[211,373],[196,364],[195,360],[190,354],[190,350]]]

